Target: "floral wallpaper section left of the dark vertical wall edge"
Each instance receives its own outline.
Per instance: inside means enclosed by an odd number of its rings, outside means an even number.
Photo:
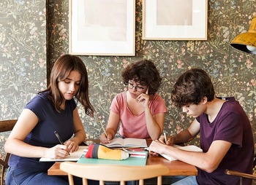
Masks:
[[[0,119],[17,119],[46,87],[45,1],[0,0]],[[0,157],[9,133],[0,134]]]

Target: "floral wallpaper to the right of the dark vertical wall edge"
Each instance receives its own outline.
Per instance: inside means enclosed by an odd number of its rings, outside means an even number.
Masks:
[[[50,61],[69,51],[68,1],[49,1],[49,53]],[[99,121],[106,125],[109,107],[116,93],[124,90],[121,70],[128,63],[142,58],[153,60],[162,75],[159,94],[168,108],[165,131],[180,132],[192,121],[191,117],[176,109],[170,102],[170,91],[178,75],[188,68],[203,68],[211,75],[218,96],[235,96],[246,111],[256,130],[256,78],[255,55],[230,47],[231,40],[249,28],[256,15],[255,0],[208,1],[207,41],[146,41],[142,39],[142,0],[136,1],[135,57],[80,56],[89,71],[91,102],[97,114],[95,119],[80,115],[89,138],[102,133]],[[255,133],[256,135],[256,133]],[[198,143],[198,140],[195,141]]]

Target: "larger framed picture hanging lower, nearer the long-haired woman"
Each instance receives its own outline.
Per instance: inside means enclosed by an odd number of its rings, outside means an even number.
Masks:
[[[135,0],[69,0],[69,53],[135,55]]]

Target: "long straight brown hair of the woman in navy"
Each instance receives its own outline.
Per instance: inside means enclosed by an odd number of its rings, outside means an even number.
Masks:
[[[94,117],[95,110],[89,101],[89,81],[86,66],[78,56],[66,54],[59,57],[50,73],[50,84],[46,90],[41,92],[49,91],[48,98],[53,101],[56,111],[61,111],[61,103],[64,98],[61,95],[58,83],[67,79],[71,71],[78,71],[81,74],[80,87],[75,94],[75,98],[82,104],[86,114]]]

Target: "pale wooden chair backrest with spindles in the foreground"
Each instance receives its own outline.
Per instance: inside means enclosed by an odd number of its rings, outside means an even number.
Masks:
[[[124,185],[125,181],[137,181],[143,185],[146,178],[157,177],[157,184],[162,184],[162,176],[169,172],[164,165],[86,165],[77,162],[61,162],[60,169],[68,173],[69,184],[73,185],[73,176],[83,178],[83,185],[87,185],[87,179],[99,181],[119,181]]]

